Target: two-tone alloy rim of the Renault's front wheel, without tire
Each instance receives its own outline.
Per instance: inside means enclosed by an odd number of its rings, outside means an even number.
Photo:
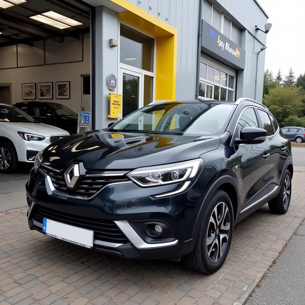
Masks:
[[[230,234],[230,212],[224,202],[217,203],[209,221],[206,234],[206,251],[211,262],[216,263],[223,255]]]

